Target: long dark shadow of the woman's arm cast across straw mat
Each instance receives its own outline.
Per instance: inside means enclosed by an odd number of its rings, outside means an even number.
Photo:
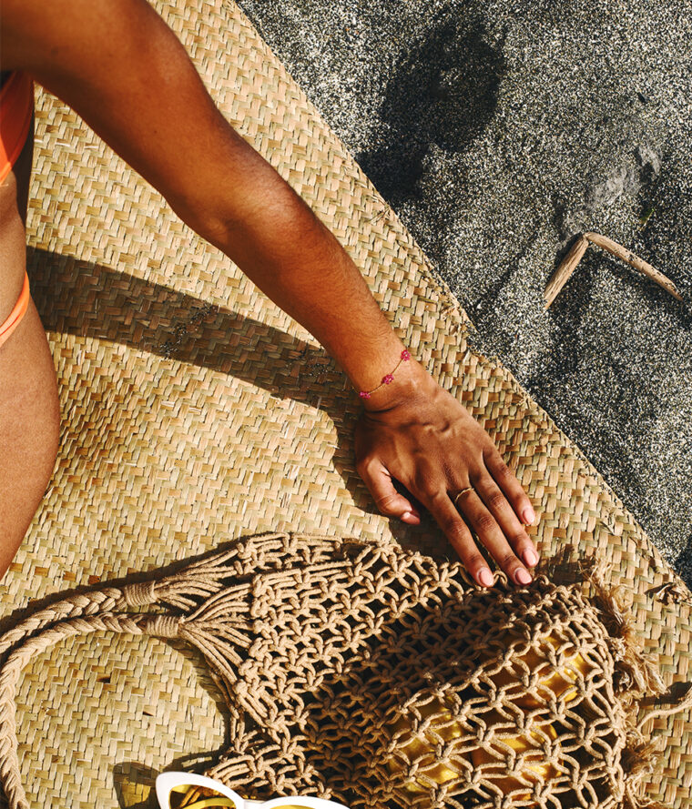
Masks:
[[[238,312],[92,262],[29,248],[27,268],[46,331],[106,339],[209,368],[279,399],[327,412],[337,430],[334,468],[356,505],[379,513],[355,470],[353,431],[360,403],[323,349]],[[392,521],[392,531],[408,537],[412,529]]]

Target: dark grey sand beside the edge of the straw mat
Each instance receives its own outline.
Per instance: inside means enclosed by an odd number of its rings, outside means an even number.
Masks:
[[[497,355],[692,584],[692,0],[240,0]],[[643,221],[646,220],[646,221]]]

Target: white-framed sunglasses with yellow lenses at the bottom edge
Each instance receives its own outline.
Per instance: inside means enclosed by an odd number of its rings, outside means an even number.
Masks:
[[[157,798],[161,809],[348,809],[334,801],[299,795],[246,801],[219,781],[193,773],[161,773]]]

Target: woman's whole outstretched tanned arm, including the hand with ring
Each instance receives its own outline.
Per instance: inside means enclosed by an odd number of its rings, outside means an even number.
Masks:
[[[331,232],[209,97],[178,39],[145,0],[3,0],[3,67],[25,69],[82,116],[337,359],[375,388],[401,341]],[[514,581],[534,563],[520,520],[531,503],[493,441],[415,361],[365,401],[358,468],[381,511],[432,511],[477,581],[489,571],[451,496]],[[517,516],[518,515],[518,516]]]

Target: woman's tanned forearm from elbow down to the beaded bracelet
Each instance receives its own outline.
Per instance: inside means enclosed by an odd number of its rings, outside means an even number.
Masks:
[[[354,388],[374,388],[396,364],[401,340],[331,231],[269,163],[245,148],[233,193],[201,235],[308,329]]]

